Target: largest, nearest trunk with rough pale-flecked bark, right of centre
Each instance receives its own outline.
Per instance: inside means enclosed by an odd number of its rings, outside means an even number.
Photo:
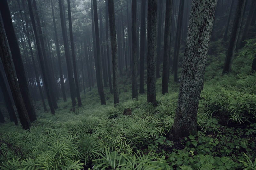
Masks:
[[[172,137],[197,133],[197,109],[217,0],[193,0]]]

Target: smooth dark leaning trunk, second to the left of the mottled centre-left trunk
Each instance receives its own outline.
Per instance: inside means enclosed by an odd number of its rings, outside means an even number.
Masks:
[[[95,59],[95,67],[96,67],[96,77],[98,77],[98,84],[100,91],[100,101],[102,105],[106,104],[105,96],[104,96],[104,89],[103,89],[103,83],[102,83],[102,64],[101,64],[101,58],[100,58],[100,36],[99,36],[99,26],[98,26],[98,12],[97,12],[97,1],[93,0],[93,13],[94,13],[94,28],[95,28],[95,43],[96,43],[96,50],[97,50],[97,56]]]

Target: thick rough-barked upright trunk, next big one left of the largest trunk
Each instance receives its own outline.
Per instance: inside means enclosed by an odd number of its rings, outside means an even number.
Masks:
[[[156,104],[156,18],[157,0],[148,0],[147,101]]]

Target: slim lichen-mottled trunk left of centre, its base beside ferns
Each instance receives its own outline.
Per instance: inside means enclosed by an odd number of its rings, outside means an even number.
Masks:
[[[113,92],[114,92],[114,106],[119,103],[118,86],[117,86],[117,55],[116,55],[116,24],[115,11],[113,0],[108,0],[108,16],[110,27],[110,40],[112,52],[112,71],[113,71]]]

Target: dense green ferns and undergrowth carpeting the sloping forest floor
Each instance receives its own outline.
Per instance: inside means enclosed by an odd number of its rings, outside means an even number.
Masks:
[[[211,44],[196,136],[168,140],[179,90],[172,77],[166,95],[161,94],[161,79],[157,80],[154,107],[146,103],[146,94],[131,100],[130,78],[123,76],[119,78],[121,103],[116,108],[107,88],[105,106],[93,88],[81,93],[83,106],[75,113],[70,111],[70,100],[59,100],[55,115],[43,113],[38,101],[38,119],[31,131],[13,122],[1,124],[0,168],[256,169],[253,49],[255,40],[236,55],[233,72],[222,76],[225,49],[220,41]]]

